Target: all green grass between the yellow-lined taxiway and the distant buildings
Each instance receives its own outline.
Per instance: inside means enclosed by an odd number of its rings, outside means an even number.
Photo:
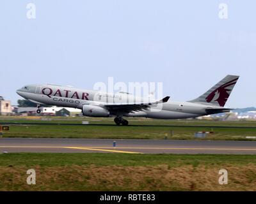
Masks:
[[[75,125],[81,124],[83,120],[89,121],[90,125]],[[4,133],[5,137],[163,139],[167,136],[170,139],[186,140],[195,139],[194,134],[197,131],[214,132],[200,140],[250,140],[246,139],[246,136],[256,136],[256,123],[253,121],[228,122],[131,118],[129,119],[131,126],[115,126],[113,119],[83,117],[0,117],[0,124],[1,122],[11,123],[10,131]],[[15,123],[22,123],[22,125],[15,125]],[[36,125],[37,123],[48,125]],[[241,128],[234,128],[235,126]]]

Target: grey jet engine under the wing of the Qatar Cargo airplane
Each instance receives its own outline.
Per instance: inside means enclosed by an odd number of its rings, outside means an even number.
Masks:
[[[109,111],[100,106],[84,105],[83,115],[88,117],[109,117]]]

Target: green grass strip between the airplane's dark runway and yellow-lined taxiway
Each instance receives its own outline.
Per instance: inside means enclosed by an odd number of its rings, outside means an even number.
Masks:
[[[168,126],[61,126],[61,125],[12,125],[4,137],[49,138],[137,138],[137,139],[194,139],[197,131],[213,131],[205,140],[246,140],[256,136],[256,128],[201,128]],[[172,133],[173,135],[172,135]]]

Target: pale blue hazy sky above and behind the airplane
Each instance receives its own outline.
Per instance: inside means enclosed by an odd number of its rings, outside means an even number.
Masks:
[[[226,105],[256,106],[255,8],[254,0],[1,0],[0,95],[17,104],[22,85],[92,89],[114,77],[163,82],[164,95],[187,101],[232,74],[241,77]]]

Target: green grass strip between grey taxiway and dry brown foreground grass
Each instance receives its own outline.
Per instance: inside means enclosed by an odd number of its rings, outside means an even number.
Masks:
[[[180,166],[182,164],[256,164],[253,155],[216,154],[104,154],[104,153],[12,153],[0,154],[0,166]]]

